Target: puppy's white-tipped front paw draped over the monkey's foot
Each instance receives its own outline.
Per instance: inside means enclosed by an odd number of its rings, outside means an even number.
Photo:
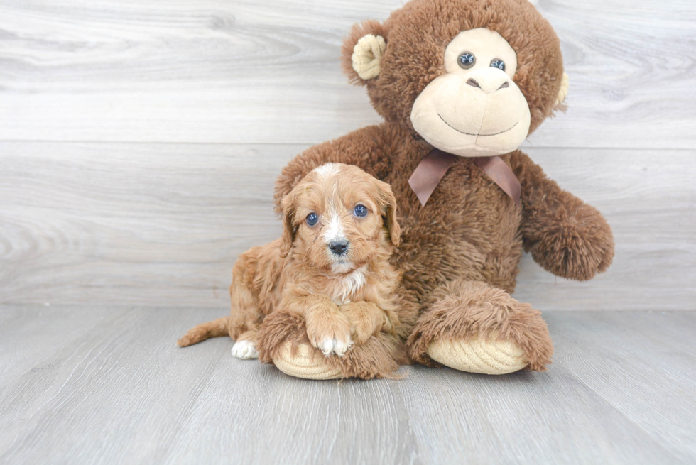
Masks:
[[[320,315],[308,315],[305,321],[310,344],[325,356],[336,354],[342,357],[353,346],[350,339],[350,323],[344,314],[325,312]]]

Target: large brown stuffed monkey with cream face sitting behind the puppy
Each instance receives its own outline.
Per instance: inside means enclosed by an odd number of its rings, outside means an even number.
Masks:
[[[304,378],[388,376],[399,363],[501,374],[544,371],[541,314],[511,297],[522,251],[588,280],[614,256],[597,209],[562,190],[518,147],[567,94],[558,37],[527,0],[411,0],[344,41],[342,65],[384,123],[297,155],[276,207],[310,170],[357,165],[391,184],[403,273],[397,334],[345,356],[308,344],[303,321],[263,322],[261,359]]]

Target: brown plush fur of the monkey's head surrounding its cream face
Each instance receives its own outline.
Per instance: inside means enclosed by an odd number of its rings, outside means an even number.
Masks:
[[[563,77],[560,42],[551,25],[528,0],[413,0],[380,24],[353,26],[342,48],[350,82],[367,86],[374,109],[386,121],[413,130],[410,111],[420,92],[445,72],[445,48],[461,31],[497,31],[517,53],[514,81],[531,112],[529,132],[553,112]],[[382,35],[387,51],[378,78],[363,81],[352,69],[353,47],[365,34]]]

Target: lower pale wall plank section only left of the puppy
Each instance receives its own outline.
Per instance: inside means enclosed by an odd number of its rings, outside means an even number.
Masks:
[[[295,151],[2,144],[0,301],[228,302],[236,256],[280,234],[271,191]]]

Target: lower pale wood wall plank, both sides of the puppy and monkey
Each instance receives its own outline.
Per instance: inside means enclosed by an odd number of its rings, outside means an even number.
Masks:
[[[236,256],[280,234],[273,180],[305,147],[0,143],[0,302],[226,307]],[[604,212],[616,258],[577,283],[525,256],[519,300],[696,309],[695,153],[528,152]]]

